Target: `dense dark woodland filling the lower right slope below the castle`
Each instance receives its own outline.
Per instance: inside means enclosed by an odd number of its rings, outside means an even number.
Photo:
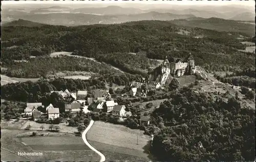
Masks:
[[[181,90],[152,114],[152,152],[162,161],[253,161],[255,111],[230,98]],[[153,127],[154,127],[153,126]]]

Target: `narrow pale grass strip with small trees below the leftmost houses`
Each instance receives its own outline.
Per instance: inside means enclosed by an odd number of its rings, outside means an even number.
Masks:
[[[51,125],[51,124],[45,124],[45,123],[36,123],[34,121],[28,121],[20,129],[25,129],[29,124],[31,125],[30,130],[41,130],[40,129],[41,125],[44,125],[45,129],[48,129],[49,126]],[[67,132],[67,133],[75,133],[75,132],[77,132],[77,128],[76,127],[67,126],[66,123],[60,123],[60,124],[56,124],[56,125],[58,125],[60,127],[60,129],[59,129],[60,132]],[[54,125],[54,126],[56,126],[56,125]]]

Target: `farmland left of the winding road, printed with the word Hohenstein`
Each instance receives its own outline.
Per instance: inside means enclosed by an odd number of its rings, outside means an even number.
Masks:
[[[39,137],[39,139],[38,137],[22,138],[22,140],[25,139],[24,141],[26,141],[28,144],[39,144],[39,142],[44,142],[44,144],[55,145],[53,147],[50,145],[45,147],[38,146],[39,148],[43,148],[45,150],[47,150],[47,148],[55,149],[55,151],[45,151],[42,149],[33,150],[32,147],[24,145],[20,138],[16,138],[18,134],[29,132],[29,130],[2,129],[1,131],[1,160],[4,161],[98,161],[100,158],[94,151],[87,150],[88,147],[79,137],[44,137],[46,138],[45,141],[42,140],[42,137]],[[57,145],[58,142],[61,145]],[[81,150],[74,150],[74,148],[77,148],[77,144]],[[84,147],[82,147],[82,144],[84,144]],[[66,147],[63,148],[62,145],[66,145]],[[71,146],[71,149],[69,149],[69,145]],[[36,147],[36,145],[33,147]],[[40,152],[42,153],[42,156],[18,156],[18,152]]]

